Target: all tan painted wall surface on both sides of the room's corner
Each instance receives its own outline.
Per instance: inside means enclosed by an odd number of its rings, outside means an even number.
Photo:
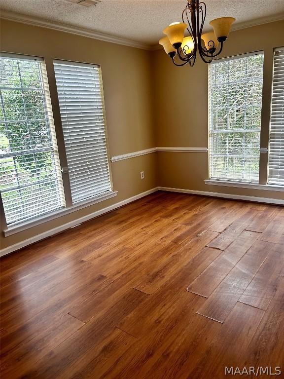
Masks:
[[[264,50],[265,77],[261,146],[267,147],[273,48],[284,45],[284,21],[232,32],[222,56]],[[162,50],[144,51],[92,38],[25,24],[1,21],[2,51],[44,57],[49,76],[58,145],[64,144],[52,59],[100,64],[106,103],[110,155],[151,147],[208,146],[208,66],[197,59],[194,68],[175,67]],[[63,152],[63,153],[62,153]],[[262,155],[263,182],[267,156]],[[1,248],[58,227],[154,187],[196,189],[283,198],[284,192],[207,186],[207,154],[158,152],[111,164],[118,195],[26,231],[3,237]],[[140,171],[145,179],[140,179]]]

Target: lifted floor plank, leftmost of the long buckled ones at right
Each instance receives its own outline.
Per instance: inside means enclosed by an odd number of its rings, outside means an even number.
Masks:
[[[259,234],[244,230],[188,287],[187,291],[208,298],[231,269],[246,254]]]

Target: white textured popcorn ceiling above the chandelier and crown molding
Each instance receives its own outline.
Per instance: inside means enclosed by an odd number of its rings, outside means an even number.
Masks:
[[[1,9],[147,44],[156,44],[162,30],[181,21],[186,0],[102,0],[85,7],[65,0],[1,0]],[[283,14],[284,0],[207,0],[207,21],[223,16],[236,18],[235,27],[251,20]]]

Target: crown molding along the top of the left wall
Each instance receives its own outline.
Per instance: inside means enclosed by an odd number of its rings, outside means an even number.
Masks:
[[[77,36],[99,39],[105,42],[117,43],[119,45],[137,47],[138,49],[151,50],[151,47],[146,43],[133,41],[131,39],[111,36],[109,34],[95,32],[90,29],[78,28],[67,24],[55,23],[48,20],[42,20],[36,17],[27,16],[20,13],[13,13],[1,10],[0,17],[4,20],[20,22],[22,24],[39,26],[41,28],[48,28],[58,30],[60,32],[66,32],[75,34]]]

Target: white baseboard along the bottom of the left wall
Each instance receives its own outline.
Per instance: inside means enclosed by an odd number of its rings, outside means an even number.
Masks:
[[[107,212],[110,212],[110,211],[112,211],[114,209],[120,208],[123,205],[131,203],[132,201],[138,200],[138,199],[140,199],[140,198],[142,198],[144,196],[149,195],[150,193],[156,192],[157,190],[158,190],[157,187],[149,189],[149,190],[147,190],[145,192],[139,193],[138,195],[129,197],[128,199],[125,199],[125,200],[119,201],[118,203],[110,205],[109,207],[100,209],[99,211],[90,213],[89,215],[80,217],[79,219],[76,219],[76,220],[73,220],[73,221],[71,221],[71,222],[69,222],[67,224],[61,225],[60,227],[54,227],[53,229],[50,229],[50,230],[47,230],[47,231],[45,231],[43,233],[37,234],[34,237],[31,237],[31,238],[25,239],[24,241],[15,243],[14,245],[11,245],[11,246],[8,246],[8,247],[6,247],[4,249],[1,249],[0,250],[0,257],[4,256],[6,254],[12,253],[13,251],[22,249],[23,247],[26,247],[28,245],[31,245],[32,243],[40,241],[41,239],[50,237],[51,235],[58,234],[61,231],[67,230],[67,229],[69,229],[71,227],[74,227],[77,224],[84,223],[85,221],[89,221],[91,219],[94,219],[94,218],[96,218],[98,216],[103,215],[104,213],[107,213]]]

